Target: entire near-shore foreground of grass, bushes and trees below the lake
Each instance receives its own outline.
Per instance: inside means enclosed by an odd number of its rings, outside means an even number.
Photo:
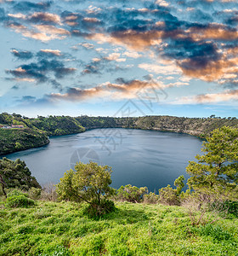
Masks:
[[[212,131],[202,151],[186,192],[180,176],[158,195],[112,189],[94,162],[41,189],[24,162],[0,160],[0,255],[237,255],[238,129]]]

